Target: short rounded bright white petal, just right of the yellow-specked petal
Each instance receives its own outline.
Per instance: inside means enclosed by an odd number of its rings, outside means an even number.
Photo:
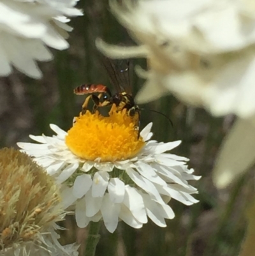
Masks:
[[[112,178],[107,188],[112,202],[120,203],[123,201],[125,194],[125,184],[123,181],[120,181],[117,177]]]

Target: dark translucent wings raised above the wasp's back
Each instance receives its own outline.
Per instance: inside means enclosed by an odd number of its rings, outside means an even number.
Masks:
[[[126,93],[131,94],[131,64],[129,59],[112,60],[108,59],[108,57],[102,56],[101,60],[108,72],[110,82],[117,92],[121,93],[126,91]]]

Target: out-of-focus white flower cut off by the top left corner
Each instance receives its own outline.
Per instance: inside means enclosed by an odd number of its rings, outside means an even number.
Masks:
[[[0,76],[10,75],[12,66],[39,79],[36,61],[49,61],[47,49],[67,49],[67,17],[82,15],[73,6],[78,0],[2,0],[0,2]]]

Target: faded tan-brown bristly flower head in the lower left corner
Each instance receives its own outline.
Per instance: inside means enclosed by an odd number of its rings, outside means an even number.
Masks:
[[[15,149],[0,149],[0,208],[1,255],[78,256],[58,241],[65,212],[54,179]]]

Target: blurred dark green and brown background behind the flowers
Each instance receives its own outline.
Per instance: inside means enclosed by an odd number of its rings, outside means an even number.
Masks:
[[[54,61],[39,63],[43,79],[33,80],[19,72],[0,79],[0,144],[14,146],[18,141],[29,141],[29,134],[52,135],[50,123],[68,130],[77,116],[84,97],[75,96],[73,89],[85,83],[102,83],[110,87],[105,70],[94,54],[94,40],[103,38],[108,43],[135,45],[127,31],[108,10],[108,1],[80,0],[78,7],[84,17],[71,21],[74,27],[66,51],[54,52]],[[135,64],[146,69],[144,59]],[[133,94],[142,87],[143,80],[133,74]],[[135,230],[120,223],[110,234],[101,227],[101,239],[96,255],[104,256],[193,256],[237,255],[245,232],[245,206],[253,191],[250,174],[242,177],[226,190],[212,184],[212,167],[222,139],[230,130],[234,117],[213,118],[205,110],[186,107],[173,96],[142,105],[157,110],[168,119],[153,112],[142,112],[141,126],[153,122],[154,139],[182,140],[174,153],[190,158],[189,167],[202,176],[193,183],[199,190],[200,202],[186,207],[171,200],[176,217],[168,220],[168,227],[159,228],[147,223]],[[83,255],[87,229],[78,229],[73,216],[62,223],[62,243],[78,241]]]

